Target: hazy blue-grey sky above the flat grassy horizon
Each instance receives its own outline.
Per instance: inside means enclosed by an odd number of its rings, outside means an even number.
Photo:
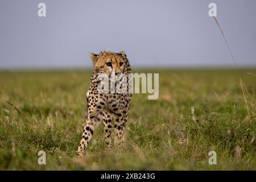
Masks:
[[[46,17],[38,3],[46,3]],[[135,66],[256,66],[256,1],[1,0],[0,68],[91,67],[88,52],[126,51]]]

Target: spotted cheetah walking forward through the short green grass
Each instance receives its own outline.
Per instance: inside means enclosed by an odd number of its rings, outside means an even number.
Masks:
[[[126,57],[124,51],[115,53],[108,51],[101,51],[98,55],[95,53],[89,53],[93,61],[93,73],[90,78],[90,88],[86,94],[88,104],[88,117],[82,133],[82,139],[78,147],[78,154],[81,156],[85,153],[86,147],[92,139],[94,130],[103,122],[105,131],[105,141],[108,147],[112,147],[112,119],[114,120],[114,145],[117,147],[123,146],[125,142],[124,132],[129,115],[129,107],[131,102],[131,92],[129,88],[131,81],[129,73],[131,73],[131,67],[129,60]],[[122,92],[113,92],[113,88],[110,87],[111,92],[100,92],[99,75],[106,75],[108,78],[115,78],[114,85],[118,85],[120,77],[122,79],[122,85],[117,86]],[[110,81],[111,82],[111,81]],[[121,82],[121,81],[120,81]],[[108,85],[109,81],[108,81]]]

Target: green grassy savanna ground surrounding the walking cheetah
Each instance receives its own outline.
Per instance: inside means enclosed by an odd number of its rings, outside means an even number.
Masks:
[[[0,169],[256,169],[256,69],[133,72],[159,73],[158,100],[133,94],[125,148],[106,148],[101,125],[83,158],[76,150],[91,71],[0,72]],[[208,164],[210,150],[217,165]]]

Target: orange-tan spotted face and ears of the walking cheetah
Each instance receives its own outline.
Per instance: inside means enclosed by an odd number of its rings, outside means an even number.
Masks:
[[[90,52],[90,57],[93,60],[93,69],[97,73],[105,73],[106,75],[119,77],[120,73],[124,73],[126,70],[125,52],[101,52],[96,55]]]

